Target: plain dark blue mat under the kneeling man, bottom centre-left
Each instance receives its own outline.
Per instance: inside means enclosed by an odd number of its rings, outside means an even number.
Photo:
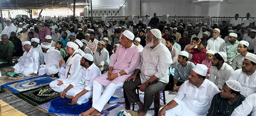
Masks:
[[[117,99],[118,98],[116,97],[111,97],[110,102],[115,101]],[[68,98],[63,99],[61,97],[51,100],[49,110],[47,113],[79,115],[80,113],[89,110],[92,106],[91,101],[83,103],[82,105],[73,106],[65,105],[66,102],[71,103],[71,100]]]

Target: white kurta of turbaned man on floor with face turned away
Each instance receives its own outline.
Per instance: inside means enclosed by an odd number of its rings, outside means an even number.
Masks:
[[[45,64],[41,64],[38,69],[38,75],[47,74],[50,76],[51,74],[58,73],[59,61],[62,59],[59,50],[49,49],[47,50],[44,61]]]

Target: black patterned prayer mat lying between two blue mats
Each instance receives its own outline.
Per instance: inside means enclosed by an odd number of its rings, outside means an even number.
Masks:
[[[41,105],[54,98],[60,97],[60,93],[55,92],[49,85],[18,92],[15,95],[34,106]]]

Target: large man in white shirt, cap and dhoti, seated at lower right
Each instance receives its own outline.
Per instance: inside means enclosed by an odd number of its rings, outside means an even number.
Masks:
[[[191,70],[189,80],[185,81],[175,98],[160,108],[158,116],[200,116],[206,115],[212,98],[219,93],[218,87],[205,79],[207,66],[196,64]],[[186,109],[186,111],[184,111]]]

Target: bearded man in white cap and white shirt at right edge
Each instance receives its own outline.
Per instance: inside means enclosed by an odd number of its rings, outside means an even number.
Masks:
[[[238,81],[241,86],[241,94],[245,97],[256,93],[256,57],[245,56],[242,69],[237,69],[229,77],[230,80]]]

